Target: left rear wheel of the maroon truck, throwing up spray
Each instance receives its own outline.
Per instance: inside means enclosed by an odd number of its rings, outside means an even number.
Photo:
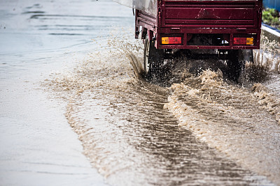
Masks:
[[[163,49],[156,49],[155,42],[150,41],[148,36],[145,39],[144,45],[144,71],[146,75],[153,76],[160,72],[160,65],[162,65],[165,59],[165,53]]]

